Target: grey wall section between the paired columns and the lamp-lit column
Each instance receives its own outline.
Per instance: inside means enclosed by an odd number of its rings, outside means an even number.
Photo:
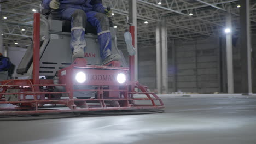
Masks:
[[[172,86],[170,91],[219,92],[219,39],[174,43],[176,62],[173,67],[173,59],[169,59],[169,67],[172,68],[169,71],[169,81],[176,85],[176,89]],[[172,79],[173,71],[176,82]]]

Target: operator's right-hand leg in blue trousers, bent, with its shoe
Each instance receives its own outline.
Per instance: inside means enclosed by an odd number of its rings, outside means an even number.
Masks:
[[[93,27],[96,27],[98,33],[98,40],[100,43],[100,52],[102,61],[119,61],[119,55],[111,54],[111,34],[109,29],[109,20],[105,14],[89,11],[86,13],[88,22]]]

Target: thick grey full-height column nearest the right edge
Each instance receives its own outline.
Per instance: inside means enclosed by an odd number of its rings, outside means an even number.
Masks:
[[[252,62],[250,34],[250,1],[240,0],[241,34],[241,91],[244,95],[252,94]]]

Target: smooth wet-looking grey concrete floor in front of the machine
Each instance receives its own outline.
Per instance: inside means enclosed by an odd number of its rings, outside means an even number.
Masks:
[[[166,112],[0,122],[0,143],[256,143],[256,97],[162,97]]]

